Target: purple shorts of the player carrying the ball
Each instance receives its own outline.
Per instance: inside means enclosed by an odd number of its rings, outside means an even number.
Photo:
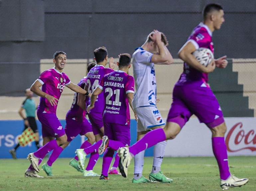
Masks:
[[[210,88],[198,84],[175,85],[167,122],[176,122],[183,127],[193,114],[211,128],[224,122],[219,103]]]

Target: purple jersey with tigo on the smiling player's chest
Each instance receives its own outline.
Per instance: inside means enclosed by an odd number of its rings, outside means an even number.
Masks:
[[[60,99],[65,85],[70,83],[68,76],[64,72],[60,73],[55,68],[42,72],[37,80],[42,83],[43,92],[57,99]],[[52,106],[46,98],[41,97],[37,110],[38,112],[56,114],[57,105]]]

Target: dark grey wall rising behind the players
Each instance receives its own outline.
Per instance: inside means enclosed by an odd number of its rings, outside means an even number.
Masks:
[[[113,57],[132,54],[153,29],[166,34],[177,58],[210,2],[225,12],[213,33],[215,57],[255,58],[255,0],[1,0],[0,96],[23,96],[40,74],[40,59],[56,50],[68,59],[92,58],[99,46]]]

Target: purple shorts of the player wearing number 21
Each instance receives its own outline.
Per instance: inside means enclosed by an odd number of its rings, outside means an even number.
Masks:
[[[104,122],[104,135],[107,135],[110,140],[120,141],[124,145],[130,146],[130,124],[121,125]]]

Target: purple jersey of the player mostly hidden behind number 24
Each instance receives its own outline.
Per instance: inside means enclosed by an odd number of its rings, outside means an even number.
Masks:
[[[84,89],[85,84],[86,84],[86,77],[82,78],[77,85]],[[77,105],[77,100],[78,100],[78,93],[75,92],[71,108],[67,112],[66,118],[75,118],[76,121],[81,122],[85,120],[85,111]]]

